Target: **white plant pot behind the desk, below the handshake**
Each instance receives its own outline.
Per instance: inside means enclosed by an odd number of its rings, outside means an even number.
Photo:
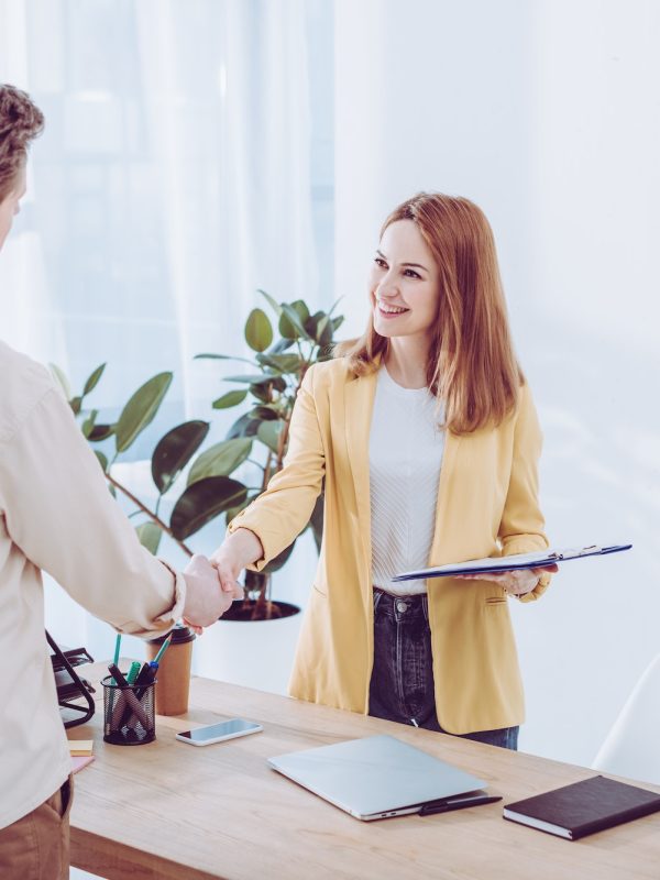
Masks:
[[[240,606],[240,603],[234,603]],[[280,617],[268,620],[231,619],[228,612],[205,630],[195,642],[193,670],[198,675],[219,679],[258,691],[286,694],[294,666],[301,615],[296,605],[273,603]]]

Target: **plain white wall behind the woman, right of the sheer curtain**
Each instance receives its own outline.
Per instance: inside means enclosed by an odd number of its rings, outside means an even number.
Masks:
[[[522,749],[590,763],[660,651],[660,6],[337,0],[336,279],[350,330],[385,215],[419,189],[495,230],[544,429],[556,544],[628,538],[513,605]]]

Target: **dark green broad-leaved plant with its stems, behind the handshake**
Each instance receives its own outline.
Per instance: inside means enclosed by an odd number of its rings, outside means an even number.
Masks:
[[[156,492],[155,504],[151,506],[118,479],[112,466],[153,421],[173,374],[165,372],[153,376],[131,396],[116,422],[98,424],[98,410],[87,409],[85,398],[98,385],[106,364],[91,373],[82,392],[75,396],[66,376],[52,365],[74,414],[81,422],[82,433],[92,444],[110,491],[113,494],[121,493],[133,505],[131,515],[139,516],[141,520],[136,526],[139,538],[152,553],[157,552],[161,538],[166,534],[187,556],[193,556],[188,539],[202,526],[222,515],[229,521],[264,492],[271,476],[283,466],[294,403],[305,373],[311,364],[331,356],[334,332],[343,321],[341,316],[332,317],[334,306],[329,312],[317,311],[312,315],[302,300],[278,304],[265,292],[260,293],[275,315],[277,332],[261,308],[252,309],[244,333],[254,356],[197,355],[198,359],[249,364],[250,369],[243,373],[223,377],[224,382],[238,387],[228,391],[212,404],[216,410],[240,406],[241,415],[222,441],[213,443],[197,457],[209,432],[208,421],[183,422],[161,438],[151,457],[151,475]],[[248,460],[258,471],[255,486],[249,486],[232,476]],[[161,513],[163,497],[177,488],[188,465],[186,485],[166,521]],[[317,502],[308,528],[314,534],[318,549],[322,530],[321,498]],[[298,610],[295,606],[271,598],[271,575],[285,564],[294,544],[295,541],[263,572],[246,573],[245,600],[234,603],[237,607],[223,619],[267,620]]]

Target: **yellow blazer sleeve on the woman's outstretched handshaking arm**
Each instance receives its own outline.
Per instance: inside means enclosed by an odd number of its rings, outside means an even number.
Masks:
[[[229,524],[253,531],[264,556],[249,568],[262,571],[309,522],[326,472],[326,455],[315,402],[315,367],[311,366],[298,391],[289,426],[289,444],[282,471],[264,493]]]

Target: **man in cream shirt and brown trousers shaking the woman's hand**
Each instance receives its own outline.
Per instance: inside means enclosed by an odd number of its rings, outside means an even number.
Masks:
[[[0,86],[0,249],[43,129]],[[0,877],[68,878],[70,757],[44,635],[41,570],[87,610],[145,638],[184,617],[209,626],[242,591],[208,560],[177,574],[141,547],[68,404],[38,364],[0,342]]]

